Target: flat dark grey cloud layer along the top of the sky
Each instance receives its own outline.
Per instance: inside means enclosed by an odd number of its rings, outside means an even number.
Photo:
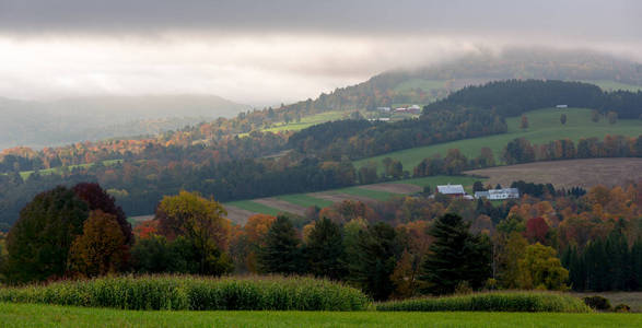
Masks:
[[[642,37],[642,2],[0,0],[8,33],[518,33]]]

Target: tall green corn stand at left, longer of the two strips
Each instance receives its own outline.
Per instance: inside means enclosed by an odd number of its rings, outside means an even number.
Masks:
[[[113,277],[0,289],[0,302],[122,309],[359,311],[359,290],[312,278]]]

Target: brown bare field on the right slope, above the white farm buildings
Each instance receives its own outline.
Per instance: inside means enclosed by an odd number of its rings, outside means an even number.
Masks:
[[[642,180],[642,159],[592,159],[551,161],[467,171],[465,174],[485,176],[489,184],[504,187],[516,180],[552,184],[556,187],[596,185],[622,186]]]

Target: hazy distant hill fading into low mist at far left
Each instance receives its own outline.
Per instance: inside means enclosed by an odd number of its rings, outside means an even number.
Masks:
[[[0,98],[0,149],[155,134],[249,106],[214,95],[94,96],[51,102]]]

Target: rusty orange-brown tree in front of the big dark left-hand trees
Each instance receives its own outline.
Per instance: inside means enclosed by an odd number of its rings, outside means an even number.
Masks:
[[[128,258],[128,247],[116,215],[92,211],[83,233],[69,250],[69,269],[83,277],[119,271]]]

